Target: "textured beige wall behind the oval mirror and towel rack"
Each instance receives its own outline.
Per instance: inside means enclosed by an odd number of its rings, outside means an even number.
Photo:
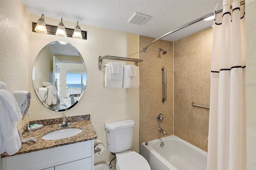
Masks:
[[[98,56],[114,55],[138,58],[138,35],[79,24],[87,32],[87,40],[57,37],[32,32],[32,21],[41,16],[29,14],[22,1],[1,0],[1,76],[7,90],[26,90],[32,93],[31,120],[90,114],[91,121],[106,151],[95,157],[95,163],[107,163],[113,155],[107,149],[104,124],[110,121],[134,119],[134,143],[131,150],[139,152],[139,89],[108,89],[104,87],[104,70],[98,70]],[[60,20],[45,17],[49,25]],[[4,25],[2,25],[2,23]],[[76,22],[63,21],[74,28]],[[80,51],[87,69],[85,94],[68,111],[55,112],[44,107],[36,97],[32,85],[32,67],[39,51],[52,41],[66,41]],[[4,43],[2,43],[4,42]],[[104,63],[105,61],[103,61]],[[104,63],[105,64],[105,63]],[[21,122],[19,121],[19,126]]]

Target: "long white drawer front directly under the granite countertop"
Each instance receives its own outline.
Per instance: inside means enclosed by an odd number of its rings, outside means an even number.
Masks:
[[[45,169],[92,156],[93,140],[6,158],[7,170]]]

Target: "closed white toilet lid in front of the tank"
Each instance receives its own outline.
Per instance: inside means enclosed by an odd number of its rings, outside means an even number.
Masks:
[[[120,155],[118,166],[120,170],[150,170],[148,161],[134,151]]]

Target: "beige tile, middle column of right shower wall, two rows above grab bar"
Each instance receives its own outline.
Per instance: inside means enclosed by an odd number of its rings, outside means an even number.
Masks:
[[[187,77],[204,76],[204,59],[188,60],[186,63]]]

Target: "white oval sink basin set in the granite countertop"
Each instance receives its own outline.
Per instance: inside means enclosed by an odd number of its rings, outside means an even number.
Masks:
[[[77,128],[61,129],[61,130],[54,131],[44,135],[42,139],[45,139],[45,140],[64,139],[67,137],[72,137],[74,135],[77,135],[78,133],[81,133],[81,132],[82,130]]]

